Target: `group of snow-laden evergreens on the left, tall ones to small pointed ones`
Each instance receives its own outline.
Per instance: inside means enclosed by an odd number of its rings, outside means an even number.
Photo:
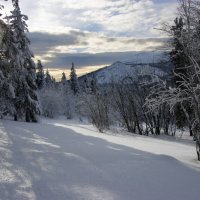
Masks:
[[[12,0],[12,5],[11,14],[0,19],[0,116],[9,115],[16,121],[20,119],[26,122],[37,122],[37,115],[40,114],[53,117],[53,112],[47,111],[47,104],[44,101],[55,98],[56,95],[53,93],[58,93],[56,81],[48,70],[44,74],[41,61],[38,61],[37,66],[34,63],[30,40],[26,34],[28,17],[21,13],[18,0]],[[0,10],[3,9],[4,7],[0,5]],[[64,88],[66,82],[63,72],[61,81],[63,87],[60,90],[66,90]],[[70,89],[74,95],[78,92],[73,63]],[[57,100],[59,98],[60,94],[57,95]],[[54,105],[53,107],[56,109]]]

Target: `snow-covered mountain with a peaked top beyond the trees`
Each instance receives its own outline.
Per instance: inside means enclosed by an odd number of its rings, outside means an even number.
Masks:
[[[91,72],[79,77],[79,81],[91,80],[96,78],[98,84],[108,84],[120,82],[127,77],[132,77],[135,81],[141,76],[156,75],[159,77],[167,76],[172,66],[169,63],[143,63],[134,64],[133,62],[115,62],[110,66]]]

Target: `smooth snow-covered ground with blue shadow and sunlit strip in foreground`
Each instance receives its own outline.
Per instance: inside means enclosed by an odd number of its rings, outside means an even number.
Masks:
[[[196,200],[199,180],[192,141],[0,121],[0,200]]]

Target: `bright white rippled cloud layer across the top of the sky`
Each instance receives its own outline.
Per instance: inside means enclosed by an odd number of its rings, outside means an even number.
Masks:
[[[20,5],[22,12],[29,15],[30,31],[66,33],[66,30],[77,29],[101,32],[107,36],[142,38],[160,35],[152,29],[162,21],[174,18],[177,2],[176,0],[23,0],[20,1]]]

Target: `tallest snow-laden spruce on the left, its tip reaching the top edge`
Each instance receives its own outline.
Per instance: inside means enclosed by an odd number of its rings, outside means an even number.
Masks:
[[[10,55],[10,63],[13,66],[12,80],[15,89],[15,120],[26,119],[27,122],[36,122],[36,114],[39,114],[39,104],[35,83],[35,64],[33,54],[29,49],[30,40],[26,36],[28,17],[21,14],[18,0],[12,0],[14,10],[7,17],[9,28],[13,33],[11,43],[16,47]]]

